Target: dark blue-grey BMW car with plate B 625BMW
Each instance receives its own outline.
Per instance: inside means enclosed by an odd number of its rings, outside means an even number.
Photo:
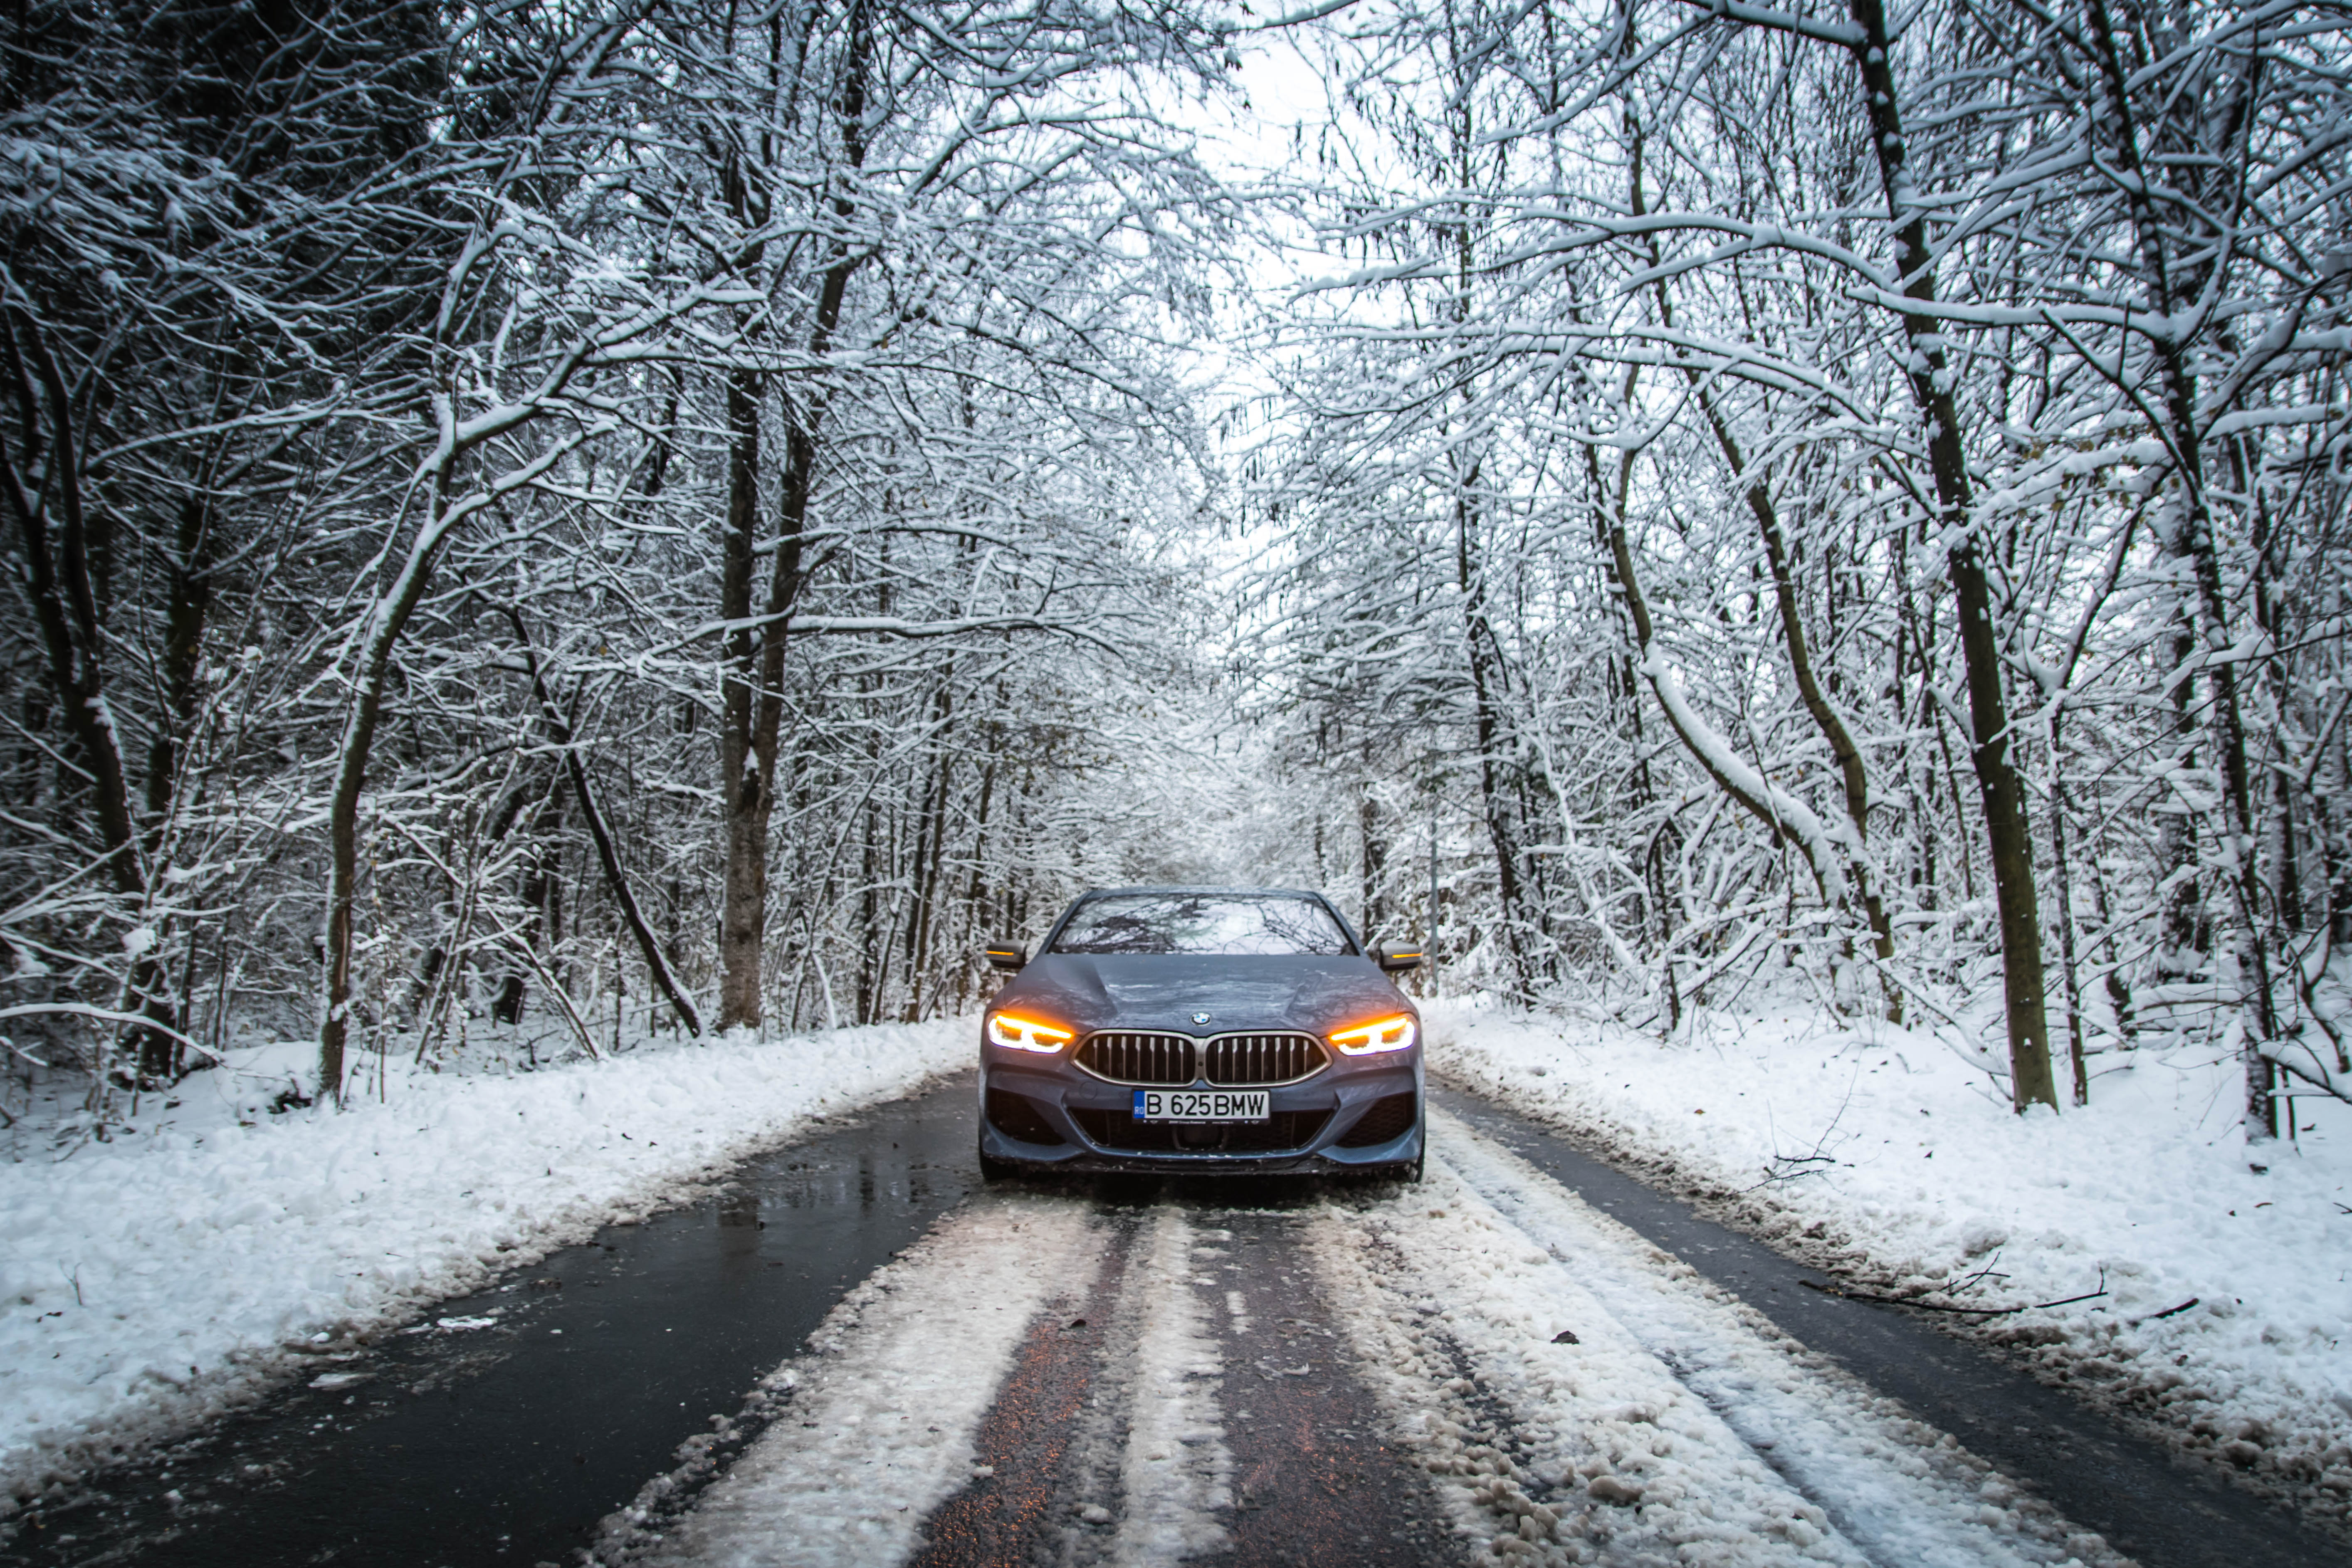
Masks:
[[[1319,893],[1082,896],[981,1020],[981,1171],[1421,1178],[1421,1013]]]

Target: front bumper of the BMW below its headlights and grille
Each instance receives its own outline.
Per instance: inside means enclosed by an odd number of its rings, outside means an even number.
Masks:
[[[1108,1084],[1068,1058],[981,1048],[981,1154],[1035,1171],[1150,1171],[1162,1175],[1341,1173],[1421,1159],[1421,1048],[1402,1060],[1338,1060],[1268,1088],[1265,1124],[1197,1131],[1134,1124],[1134,1086]],[[1028,1060],[1018,1060],[1028,1058]],[[1390,1128],[1399,1128],[1392,1131]],[[1192,1140],[1225,1147],[1178,1147]]]

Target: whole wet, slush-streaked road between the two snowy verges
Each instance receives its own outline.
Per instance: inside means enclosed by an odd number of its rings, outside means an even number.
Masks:
[[[313,1385],[19,1521],[0,1563],[2345,1561],[1559,1135],[1432,1107],[1423,1187],[983,1192],[957,1079],[445,1302],[449,1328],[322,1347]],[[953,1267],[964,1295],[1035,1279],[934,1345]],[[875,1305],[807,1352],[854,1288]],[[962,1425],[889,1387],[929,1352],[931,1387],[990,1368]],[[882,1441],[863,1406],[891,1399]],[[894,1490],[840,1495],[833,1535],[781,1493],[760,1514],[762,1486],[858,1493],[809,1481],[858,1443]],[[748,1554],[696,1533],[710,1500]]]

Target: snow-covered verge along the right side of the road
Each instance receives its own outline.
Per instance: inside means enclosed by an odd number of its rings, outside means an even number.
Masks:
[[[2107,1056],[2089,1107],[2016,1117],[1933,1037],[1818,1011],[1710,1013],[1672,1044],[1461,1006],[1430,1025],[1432,1072],[1632,1157],[1853,1288],[2091,1295],[1955,1326],[2345,1519],[2347,1107],[2296,1100],[2300,1138],[2249,1150],[2237,1063],[2213,1053]]]

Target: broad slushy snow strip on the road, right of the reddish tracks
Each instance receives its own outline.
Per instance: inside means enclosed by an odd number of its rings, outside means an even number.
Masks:
[[[1315,1262],[1456,1530],[1503,1561],[2117,1563],[1461,1121]],[[1639,1505],[1639,1507],[1635,1507]]]

